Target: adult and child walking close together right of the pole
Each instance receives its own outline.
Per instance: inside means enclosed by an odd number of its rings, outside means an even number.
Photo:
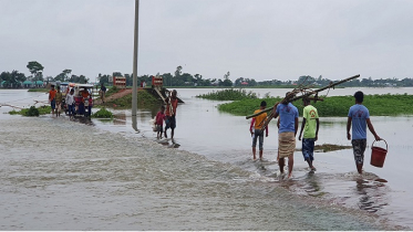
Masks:
[[[171,139],[174,139],[174,133],[176,128],[176,108],[178,107],[178,98],[177,98],[176,89],[172,91],[171,97],[166,97],[164,105],[161,106],[161,110],[156,114],[155,117],[155,127],[157,133],[157,138],[161,139],[162,135],[167,138],[167,129],[171,128]],[[166,109],[166,110],[165,110]],[[164,130],[164,122],[165,122],[165,130]]]

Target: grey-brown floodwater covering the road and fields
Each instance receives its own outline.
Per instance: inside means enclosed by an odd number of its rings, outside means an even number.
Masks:
[[[195,96],[213,89],[177,89],[175,141],[159,143],[140,109],[114,120],[91,122],[3,114],[0,107],[1,230],[411,230],[412,117],[372,117],[389,144],[383,168],[365,151],[359,177],[352,150],[316,152],[309,173],[300,151],[293,178],[276,161],[277,130],[270,124],[262,161],[252,161],[250,120],[219,113],[221,102]],[[286,89],[248,89],[282,96]],[[331,89],[352,95],[355,88]],[[366,94],[411,88],[364,88]],[[24,106],[42,93],[0,91],[0,104]],[[391,107],[391,106],[390,106]],[[300,114],[301,115],[301,114]],[[321,115],[318,144],[350,145],[347,118]],[[371,135],[368,143],[373,141]],[[379,146],[383,146],[380,144]],[[385,145],[384,145],[385,146]],[[300,148],[300,143],[297,143]]]

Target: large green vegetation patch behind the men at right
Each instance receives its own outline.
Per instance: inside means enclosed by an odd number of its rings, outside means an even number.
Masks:
[[[247,116],[259,108],[262,99],[242,99],[233,103],[226,103],[218,106],[219,110],[234,115]],[[264,98],[268,107],[281,101],[281,98]],[[300,116],[302,116],[302,102],[293,103],[297,106]],[[323,102],[312,103],[317,107],[321,117],[347,117],[350,106],[354,105],[353,96],[332,96],[326,97]],[[364,102],[371,116],[397,116],[413,115],[413,95],[407,94],[384,94],[384,95],[364,95]]]

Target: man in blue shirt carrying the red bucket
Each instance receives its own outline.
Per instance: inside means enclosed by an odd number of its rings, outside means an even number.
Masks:
[[[363,106],[364,94],[361,91],[354,94],[355,105],[350,107],[348,120],[347,120],[347,138],[351,139],[351,145],[353,146],[353,155],[357,170],[360,175],[363,173],[363,162],[364,162],[364,150],[366,147],[366,129],[373,134],[375,140],[381,140],[374,130],[373,125],[370,122],[369,109]],[[352,135],[350,135],[350,127],[352,127]]]

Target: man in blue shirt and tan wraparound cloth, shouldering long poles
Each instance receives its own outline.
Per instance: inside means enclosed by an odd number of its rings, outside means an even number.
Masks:
[[[289,93],[287,93],[287,95]],[[280,116],[280,127],[278,130],[278,165],[280,167],[280,172],[283,173],[285,158],[288,157],[288,178],[291,178],[293,152],[296,150],[296,135],[298,130],[298,109],[291,103],[277,103],[272,108],[272,114],[275,118]]]

